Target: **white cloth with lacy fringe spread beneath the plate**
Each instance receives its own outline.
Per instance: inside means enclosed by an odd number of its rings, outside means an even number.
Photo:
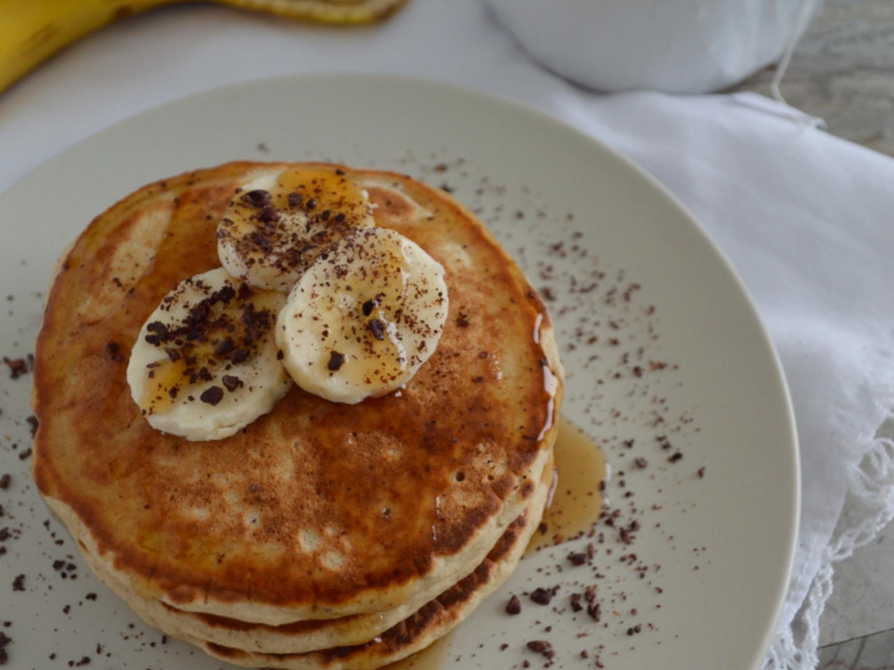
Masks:
[[[358,69],[485,88],[592,133],[662,180],[730,257],[779,349],[801,440],[801,534],[768,665],[814,667],[831,566],[894,515],[894,444],[876,437],[894,406],[889,158],[747,96],[587,93],[540,69],[477,0],[412,0],[346,30],[190,4],[105,29],[0,96],[0,189],[167,100]]]

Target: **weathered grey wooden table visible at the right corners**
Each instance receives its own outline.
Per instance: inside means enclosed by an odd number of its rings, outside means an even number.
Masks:
[[[769,95],[772,75],[736,89]],[[828,0],[780,88],[832,134],[894,155],[894,0]],[[836,566],[820,644],[822,670],[894,668],[894,524]]]

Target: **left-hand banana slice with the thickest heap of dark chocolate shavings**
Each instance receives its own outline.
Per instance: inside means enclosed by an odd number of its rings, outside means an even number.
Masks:
[[[274,324],[285,295],[249,288],[223,268],[181,281],[139,331],[127,366],[149,425],[221,440],[273,409],[291,388]]]

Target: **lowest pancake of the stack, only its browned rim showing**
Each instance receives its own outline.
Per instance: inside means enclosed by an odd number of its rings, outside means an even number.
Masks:
[[[111,578],[111,575],[102,570],[99,562],[89,552],[85,551],[85,558],[90,568],[103,582],[121,596],[149,624],[161,628],[173,637],[197,645],[213,657],[247,667],[372,670],[407,657],[443,637],[471,614],[483,599],[493,593],[512,574],[527,548],[528,541],[541,521],[551,480],[552,457],[544,469],[541,482],[529,498],[524,513],[510,523],[485,560],[471,574],[443,591],[434,600],[427,602],[412,615],[378,634],[375,639],[367,638],[367,641],[363,643],[342,645],[330,649],[283,654],[238,649],[204,640],[190,632],[185,632],[181,627],[173,626],[172,621],[178,619],[167,616],[169,610],[162,603],[143,599],[126,584]],[[192,616],[192,613],[178,614]],[[388,616],[388,613],[384,613],[383,616]],[[350,620],[351,617],[346,618]],[[237,630],[243,627],[239,625],[238,621],[232,619],[225,621],[234,622],[234,627]],[[350,636],[357,636],[357,632],[351,631],[350,625],[347,623],[345,629]],[[300,633],[298,634],[300,637]],[[215,639],[226,638],[217,634]],[[239,639],[239,634],[232,635],[230,639]]]

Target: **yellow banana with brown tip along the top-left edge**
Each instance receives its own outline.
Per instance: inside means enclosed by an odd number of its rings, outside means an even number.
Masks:
[[[0,0],[0,91],[64,46],[108,23],[183,0]],[[406,0],[212,0],[322,23],[384,19]]]

